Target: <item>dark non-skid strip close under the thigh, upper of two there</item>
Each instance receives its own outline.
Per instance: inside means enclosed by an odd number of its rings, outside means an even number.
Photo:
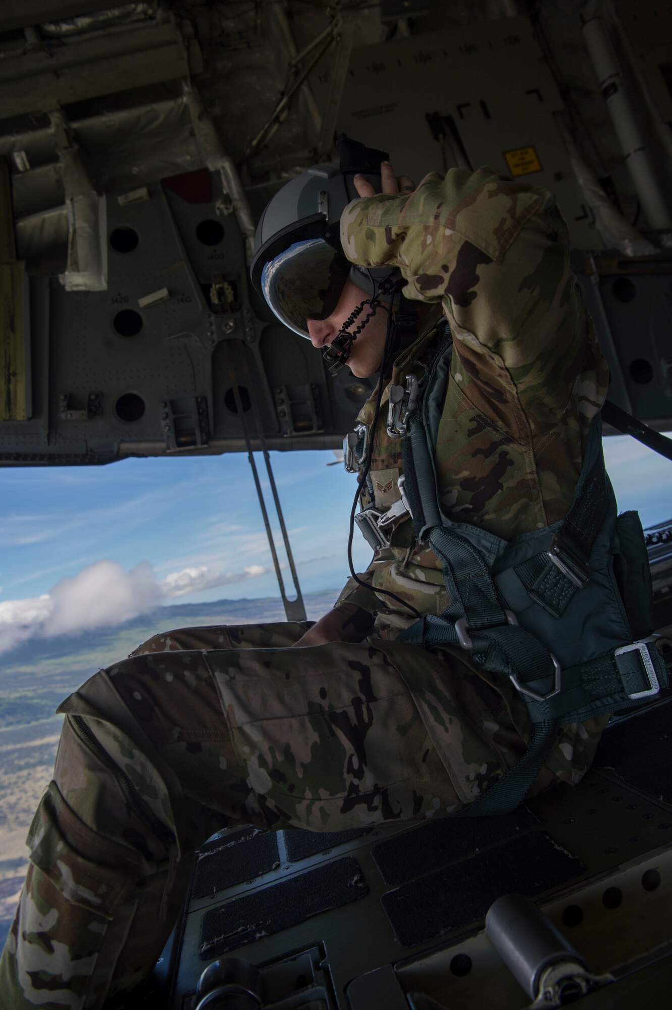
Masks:
[[[493,817],[444,817],[381,841],[371,854],[385,884],[405,884],[538,823],[526,807]]]

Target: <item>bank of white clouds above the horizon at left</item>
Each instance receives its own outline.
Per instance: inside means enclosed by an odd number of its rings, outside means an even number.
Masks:
[[[49,593],[0,603],[0,653],[29,638],[114,627],[154,610],[165,599],[256,579],[268,571],[263,565],[248,565],[242,572],[202,566],[172,572],[159,581],[146,562],[129,572],[116,562],[96,562],[62,579]]]

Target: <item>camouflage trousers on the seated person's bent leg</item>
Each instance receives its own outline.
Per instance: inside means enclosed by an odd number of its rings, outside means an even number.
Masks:
[[[289,648],[307,626],[157,635],[64,702],[0,1006],[123,1007],[163,947],[194,849],[227,825],[445,814],[524,751],[525,706],[457,651]],[[578,780],[599,728],[564,727],[535,790]]]

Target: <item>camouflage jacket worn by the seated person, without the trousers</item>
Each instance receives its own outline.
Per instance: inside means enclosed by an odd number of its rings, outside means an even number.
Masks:
[[[555,196],[482,168],[432,173],[410,196],[354,200],[341,218],[347,258],[398,267],[407,298],[440,304],[454,339],[436,445],[444,512],[512,537],[561,519],[572,502],[591,418],[606,393],[607,369],[569,266],[565,222]],[[420,378],[436,342],[430,327],[395,363],[390,384]],[[402,441],[386,431],[389,385],[372,433],[376,507],[400,498]],[[358,420],[371,425],[374,396]],[[369,431],[369,437],[371,432]],[[367,504],[364,492],[363,504]],[[338,602],[376,614],[374,633],[396,637],[420,613],[448,605],[442,567],[398,520]]]

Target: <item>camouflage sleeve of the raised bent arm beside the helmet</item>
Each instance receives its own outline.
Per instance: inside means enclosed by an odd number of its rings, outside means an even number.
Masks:
[[[549,191],[489,168],[451,169],[410,195],[354,200],[341,241],[352,263],[399,267],[407,297],[442,303],[461,366],[453,374],[514,437],[543,437],[572,395],[584,422],[598,409],[605,366]]]

